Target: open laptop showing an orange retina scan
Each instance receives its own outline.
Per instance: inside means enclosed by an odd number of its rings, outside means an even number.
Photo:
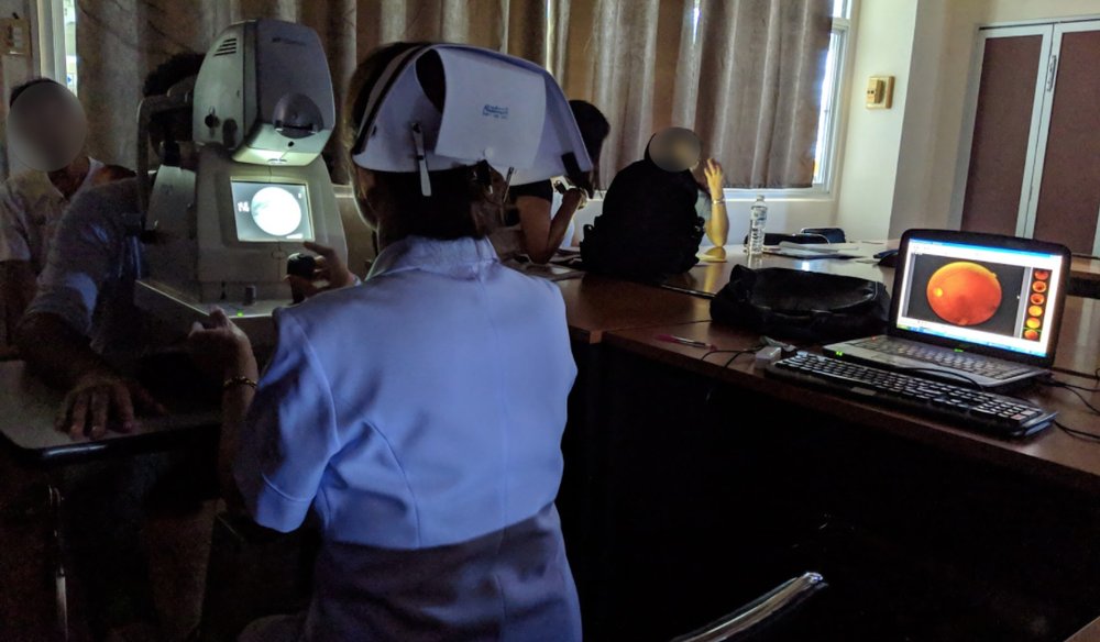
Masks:
[[[1054,364],[1069,262],[1056,243],[910,230],[887,334],[824,351],[955,385],[1020,386]]]

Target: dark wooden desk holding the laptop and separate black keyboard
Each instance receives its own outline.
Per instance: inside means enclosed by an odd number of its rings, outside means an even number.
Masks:
[[[590,491],[606,529],[593,584],[610,597],[588,610],[604,638],[683,630],[721,609],[702,578],[765,585],[756,578],[779,568],[829,578],[838,600],[814,626],[836,630],[822,639],[1045,641],[1094,616],[1100,444],[1054,427],[988,438],[766,377],[748,354],[728,368],[728,354],[703,362],[705,350],[660,333],[725,350],[757,342],[710,322],[605,333],[604,455]],[[1026,396],[1100,433],[1067,391]],[[647,623],[624,631],[631,612]],[[1011,634],[1040,621],[1045,635]],[[816,634],[804,633],[791,639]]]

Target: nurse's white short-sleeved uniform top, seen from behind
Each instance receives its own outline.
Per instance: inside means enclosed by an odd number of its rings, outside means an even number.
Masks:
[[[312,506],[329,541],[411,550],[553,502],[576,375],[565,307],[488,241],[407,239],[362,286],[277,321],[234,469],[261,524],[292,530]]]

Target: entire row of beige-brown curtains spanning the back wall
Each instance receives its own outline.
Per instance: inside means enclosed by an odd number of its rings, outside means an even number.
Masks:
[[[133,166],[145,74],[205,52],[233,22],[279,18],[320,34],[338,106],[380,44],[469,43],[539,63],[603,110],[605,177],[640,158],[656,130],[680,125],[700,133],[730,185],[807,187],[831,13],[832,0],[79,0],[80,99],[92,154]]]

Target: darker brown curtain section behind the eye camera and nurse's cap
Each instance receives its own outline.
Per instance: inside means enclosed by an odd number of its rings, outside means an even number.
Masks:
[[[92,154],[132,167],[145,75],[178,52],[206,52],[222,29],[253,18],[300,22],[320,34],[338,106],[358,62],[387,42],[470,43],[551,62],[546,0],[79,0],[79,93]]]

